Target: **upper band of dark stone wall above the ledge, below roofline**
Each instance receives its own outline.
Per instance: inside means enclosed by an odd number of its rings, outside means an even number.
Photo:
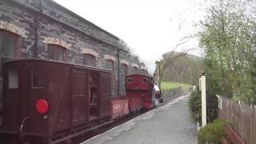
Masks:
[[[74,26],[78,30],[107,42],[113,46],[119,47],[120,39],[115,37],[113,34],[108,33],[106,30],[102,30],[100,27],[80,17],[78,14],[67,10],[65,7],[59,5],[52,0],[14,0],[15,2],[21,3],[24,6],[33,8],[34,10],[42,10],[43,14],[46,14],[52,18],[58,19],[58,21],[64,22],[69,26]],[[41,6],[42,5],[42,6]]]

